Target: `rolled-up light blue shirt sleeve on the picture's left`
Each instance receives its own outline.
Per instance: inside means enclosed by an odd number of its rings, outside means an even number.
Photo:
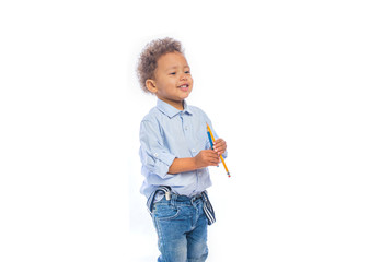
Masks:
[[[140,157],[142,165],[152,174],[165,178],[176,158],[163,143],[160,127],[143,120],[140,126]]]

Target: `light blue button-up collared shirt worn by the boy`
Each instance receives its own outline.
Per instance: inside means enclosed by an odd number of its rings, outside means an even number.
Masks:
[[[184,102],[181,111],[158,99],[157,107],[149,111],[140,126],[142,194],[149,198],[159,186],[170,186],[177,194],[193,196],[211,186],[208,168],[167,174],[175,158],[194,157],[200,151],[209,150],[206,123],[217,139],[211,121],[201,109]]]

